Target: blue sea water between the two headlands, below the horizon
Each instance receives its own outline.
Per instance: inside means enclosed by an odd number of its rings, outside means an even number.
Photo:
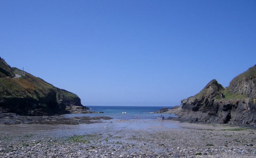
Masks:
[[[136,116],[140,116],[140,119],[156,119],[160,118],[161,114],[155,114],[155,111],[162,109],[163,107],[132,107],[132,106],[88,106],[90,110],[96,112],[104,112],[100,114],[66,114],[65,117],[75,116],[109,116],[113,119],[136,119]],[[167,107],[168,109],[172,107]],[[126,114],[122,114],[126,112]],[[162,114],[165,118],[176,117],[173,114]]]

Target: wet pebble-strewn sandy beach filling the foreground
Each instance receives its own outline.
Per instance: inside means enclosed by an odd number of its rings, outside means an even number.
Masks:
[[[1,158],[255,158],[256,130],[172,120],[0,125]]]

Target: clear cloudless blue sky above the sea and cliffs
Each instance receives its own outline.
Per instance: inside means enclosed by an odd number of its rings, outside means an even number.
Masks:
[[[0,56],[84,105],[179,105],[256,64],[255,0],[0,0]]]

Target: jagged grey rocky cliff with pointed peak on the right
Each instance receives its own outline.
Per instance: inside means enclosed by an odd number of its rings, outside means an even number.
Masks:
[[[255,69],[256,66],[235,77],[226,89],[212,80],[197,95],[181,100],[178,119],[256,126]],[[221,93],[226,99],[221,98]]]

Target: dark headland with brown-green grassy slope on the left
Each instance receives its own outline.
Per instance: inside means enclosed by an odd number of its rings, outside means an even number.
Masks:
[[[29,116],[72,113],[67,107],[87,109],[75,94],[29,73],[23,75],[22,70],[11,68],[0,59],[0,112]]]

